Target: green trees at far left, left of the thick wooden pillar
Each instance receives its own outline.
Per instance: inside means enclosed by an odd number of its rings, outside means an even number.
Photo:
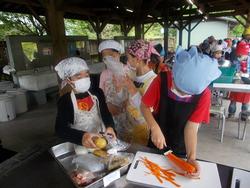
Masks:
[[[44,17],[41,17],[45,20]],[[43,26],[32,16],[19,13],[0,12],[0,40],[7,35],[44,35]]]

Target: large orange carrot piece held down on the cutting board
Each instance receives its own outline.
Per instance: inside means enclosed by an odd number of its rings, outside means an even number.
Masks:
[[[175,156],[172,151],[167,151],[164,155],[177,167],[188,173],[196,172],[196,168],[190,163],[184,161],[183,159]]]

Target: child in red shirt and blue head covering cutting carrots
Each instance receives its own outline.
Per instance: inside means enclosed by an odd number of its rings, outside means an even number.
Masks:
[[[168,147],[176,155],[187,157],[197,169],[189,177],[200,173],[196,161],[198,127],[209,122],[208,86],[220,74],[217,61],[199,54],[197,47],[189,51],[178,47],[172,72],[158,75],[142,97],[141,110],[151,132],[149,146],[159,150]]]

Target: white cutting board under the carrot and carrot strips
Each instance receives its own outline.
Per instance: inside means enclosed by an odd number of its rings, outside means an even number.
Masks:
[[[149,170],[140,161],[141,157],[147,157],[162,168],[172,168],[168,159],[164,155],[137,152],[126,177],[128,182],[142,185],[144,187],[175,188],[170,182],[164,180],[163,183],[160,183],[154,175],[148,174],[147,172],[149,172]],[[175,182],[181,185],[182,188],[221,188],[217,165],[215,163],[203,161],[199,161],[199,164],[201,166],[200,179],[189,179],[176,175]]]

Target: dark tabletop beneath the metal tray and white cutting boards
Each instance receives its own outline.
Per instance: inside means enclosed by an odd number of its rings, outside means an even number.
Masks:
[[[74,188],[69,176],[49,153],[49,148],[57,143],[36,145],[0,164],[1,188]],[[128,152],[154,152],[154,150],[133,145]],[[232,167],[217,164],[223,188],[229,188]],[[129,184],[125,176],[109,185],[110,188],[140,187]]]

